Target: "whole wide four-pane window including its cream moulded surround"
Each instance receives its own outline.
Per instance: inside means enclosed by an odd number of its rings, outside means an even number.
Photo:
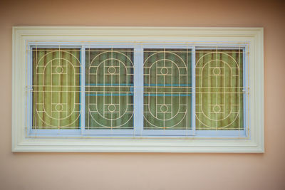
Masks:
[[[13,151],[263,152],[262,52],[260,28],[14,27]]]

